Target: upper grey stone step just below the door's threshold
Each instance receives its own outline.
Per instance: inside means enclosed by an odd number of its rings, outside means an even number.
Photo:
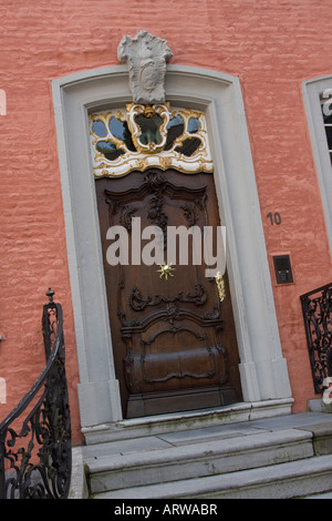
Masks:
[[[193,436],[193,435],[191,435]],[[199,442],[173,446],[169,440],[143,438],[129,443],[104,443],[85,453],[90,487],[93,494],[105,490],[126,489],[205,476],[215,476],[314,456],[312,433],[297,429],[247,433],[228,439],[201,439]],[[178,439],[178,436],[177,436]],[[191,438],[193,440],[193,438]],[[115,448],[115,447],[114,447]],[[118,452],[123,450],[124,452]],[[131,450],[133,452],[131,452]],[[125,452],[129,451],[129,452]]]

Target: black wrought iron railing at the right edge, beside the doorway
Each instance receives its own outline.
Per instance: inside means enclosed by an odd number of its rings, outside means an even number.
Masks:
[[[332,283],[301,295],[314,390],[332,377]]]

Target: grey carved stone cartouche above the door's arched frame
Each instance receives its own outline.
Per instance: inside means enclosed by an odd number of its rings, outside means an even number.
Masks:
[[[135,38],[124,37],[117,48],[117,58],[129,71],[129,88],[134,103],[165,102],[164,81],[166,62],[173,52],[166,40],[141,31]]]

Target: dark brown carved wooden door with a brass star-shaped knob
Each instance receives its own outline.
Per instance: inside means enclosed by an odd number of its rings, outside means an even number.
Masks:
[[[204,258],[196,265],[189,254],[188,264],[176,263],[167,279],[160,277],[158,265],[132,264],[133,217],[141,217],[142,231],[151,225],[163,231],[165,260],[167,226],[203,229],[220,224],[212,175],[133,172],[121,178],[96,180],[96,194],[124,417],[239,401],[239,360],[227,276],[227,297],[220,303],[215,279],[206,277]],[[106,258],[107,229],[116,225],[128,233],[128,265],[111,266]],[[149,242],[142,239],[142,249]]]

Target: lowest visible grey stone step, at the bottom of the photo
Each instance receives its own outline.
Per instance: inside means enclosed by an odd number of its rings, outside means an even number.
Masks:
[[[291,499],[331,490],[332,454],[287,463],[132,487],[97,499]]]

